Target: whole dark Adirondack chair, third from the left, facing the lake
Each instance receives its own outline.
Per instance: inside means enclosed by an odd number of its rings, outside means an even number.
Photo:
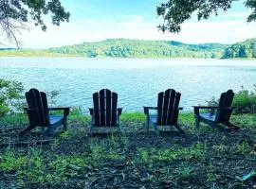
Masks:
[[[177,124],[178,113],[182,110],[178,107],[180,96],[181,94],[174,89],[168,89],[158,94],[157,107],[143,107],[147,116],[147,130],[153,125],[156,134],[159,135],[158,126],[174,126],[179,132],[184,133]],[[150,111],[155,111],[156,114]]]

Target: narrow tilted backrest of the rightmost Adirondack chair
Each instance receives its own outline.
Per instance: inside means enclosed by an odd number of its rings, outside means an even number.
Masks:
[[[232,90],[228,90],[226,93],[221,94],[219,107],[220,108],[229,108],[229,109],[218,109],[215,116],[215,121],[218,123],[226,123],[229,121],[229,118],[232,113],[232,101],[234,98],[234,93]]]

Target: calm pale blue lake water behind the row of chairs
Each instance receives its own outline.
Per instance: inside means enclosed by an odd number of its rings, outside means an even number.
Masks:
[[[22,81],[26,90],[60,90],[58,105],[84,110],[102,88],[119,94],[124,112],[155,106],[157,93],[173,88],[181,93],[180,105],[192,111],[228,89],[254,89],[256,60],[0,58],[0,78]]]

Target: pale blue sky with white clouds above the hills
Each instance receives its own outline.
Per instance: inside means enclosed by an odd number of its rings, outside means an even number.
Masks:
[[[165,1],[165,0],[161,0]],[[167,1],[167,0],[166,0]],[[71,13],[69,23],[52,26],[47,16],[46,32],[39,26],[17,33],[24,48],[58,47],[105,39],[173,40],[182,43],[237,43],[256,38],[256,23],[247,23],[251,12],[243,1],[235,2],[227,12],[198,22],[196,16],[185,22],[181,32],[162,33],[156,26],[162,20],[156,15],[158,0],[61,0]],[[3,42],[3,38],[0,42]],[[8,44],[7,46],[13,46]]]

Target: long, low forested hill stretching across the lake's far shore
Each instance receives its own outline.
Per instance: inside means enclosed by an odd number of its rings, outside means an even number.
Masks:
[[[5,50],[0,56],[52,57],[71,56],[87,58],[222,58],[226,44],[187,44],[174,41],[143,41],[128,39],[81,43],[43,50]]]

